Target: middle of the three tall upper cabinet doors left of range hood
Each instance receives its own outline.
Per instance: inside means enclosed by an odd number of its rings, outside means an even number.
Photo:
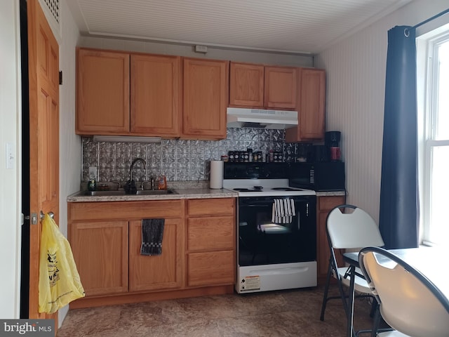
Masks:
[[[181,58],[131,55],[131,133],[179,137]]]

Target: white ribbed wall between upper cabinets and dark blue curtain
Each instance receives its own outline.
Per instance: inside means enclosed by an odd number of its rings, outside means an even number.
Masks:
[[[387,33],[448,8],[448,0],[416,0],[316,56],[327,72],[326,130],[342,131],[349,204],[378,223]]]

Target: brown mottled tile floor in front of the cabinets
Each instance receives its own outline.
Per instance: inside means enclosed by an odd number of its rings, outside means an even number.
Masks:
[[[345,336],[340,300],[328,302],[320,321],[322,296],[317,287],[69,310],[58,337]],[[368,300],[357,299],[356,329],[370,329],[369,312]]]

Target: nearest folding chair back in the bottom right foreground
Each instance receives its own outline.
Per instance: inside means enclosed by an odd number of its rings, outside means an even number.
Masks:
[[[380,315],[396,329],[377,336],[449,336],[449,300],[420,271],[379,247],[361,249],[358,262],[380,305]]]

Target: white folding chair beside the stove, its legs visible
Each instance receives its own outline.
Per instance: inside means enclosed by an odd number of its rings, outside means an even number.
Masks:
[[[344,212],[344,213],[343,213]],[[326,279],[326,288],[323,294],[323,304],[321,305],[321,321],[324,320],[324,313],[326,311],[326,304],[328,300],[335,298],[342,298],[343,308],[347,315],[349,315],[349,308],[347,303],[348,295],[344,292],[343,286],[349,288],[350,276],[348,267],[337,265],[335,258],[335,249],[361,249],[365,246],[384,246],[382,235],[379,227],[371,216],[353,205],[336,206],[328,214],[326,219],[326,232],[328,235],[328,244],[330,249],[330,259],[328,267],[328,275]],[[361,275],[361,271],[356,268],[356,273]],[[330,277],[337,279],[337,286],[340,291],[340,296],[328,296]],[[354,278],[354,290],[356,297],[373,297],[371,289],[363,277],[356,276]],[[373,315],[377,303],[373,298]]]

